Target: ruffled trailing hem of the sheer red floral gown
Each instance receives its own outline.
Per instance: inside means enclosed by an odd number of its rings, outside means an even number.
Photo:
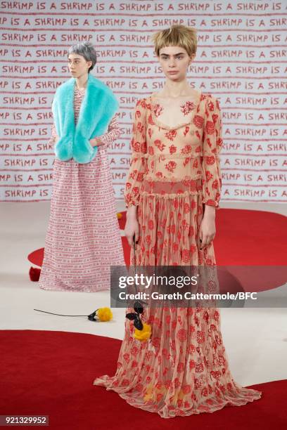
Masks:
[[[200,414],[202,412],[216,412],[225,406],[243,406],[248,402],[258,400],[262,396],[261,391],[244,388],[234,382],[234,389],[229,393],[224,393],[221,396],[210,396],[204,398],[199,404],[187,405],[186,402],[181,406],[174,406],[170,404],[171,398],[164,398],[159,403],[152,401],[144,402],[139,398],[139,391],[134,390],[129,393],[131,387],[117,387],[113,386],[115,377],[109,377],[107,374],[98,377],[94,380],[93,385],[105,386],[106,391],[115,391],[118,395],[126,400],[129,405],[134,408],[140,408],[148,412],[155,412],[162,418],[174,417],[189,417],[189,415]]]

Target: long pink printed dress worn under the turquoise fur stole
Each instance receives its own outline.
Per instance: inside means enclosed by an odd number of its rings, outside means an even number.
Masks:
[[[75,89],[75,122],[84,91]],[[107,148],[120,136],[114,117],[105,143],[87,164],[55,159],[51,213],[39,286],[97,292],[110,289],[110,266],[125,265]],[[56,141],[52,127],[50,143]]]

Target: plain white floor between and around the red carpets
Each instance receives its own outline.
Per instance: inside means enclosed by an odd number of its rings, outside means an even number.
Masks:
[[[221,204],[287,214],[282,204]],[[117,204],[124,209],[123,202]],[[110,306],[110,293],[47,292],[29,279],[27,254],[44,247],[49,202],[0,203],[0,330],[59,330],[122,339],[125,309],[113,309],[109,323],[63,314],[88,315]],[[274,244],[275,245],[275,244]],[[222,334],[234,379],[243,386],[287,378],[286,308],[222,308]]]

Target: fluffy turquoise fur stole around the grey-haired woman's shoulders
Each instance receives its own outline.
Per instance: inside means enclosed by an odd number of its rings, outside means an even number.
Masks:
[[[55,154],[61,161],[73,158],[81,164],[89,163],[98,150],[89,140],[106,133],[118,103],[108,86],[89,74],[75,125],[74,93],[75,78],[72,78],[58,87],[53,98],[52,112],[59,137]]]

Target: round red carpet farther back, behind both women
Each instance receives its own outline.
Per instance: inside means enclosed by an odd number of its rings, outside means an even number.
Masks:
[[[218,266],[226,266],[219,273],[224,291],[260,292],[280,287],[287,280],[287,218],[267,211],[219,209],[217,211],[215,255]],[[119,220],[125,228],[126,212]],[[125,261],[129,265],[129,245],[122,237]],[[29,254],[28,259],[42,266],[44,248]],[[234,267],[238,266],[238,267]],[[258,266],[250,268],[246,266]],[[229,274],[234,275],[241,289],[230,285]],[[228,274],[228,277],[227,277]],[[236,284],[236,280],[234,281]],[[226,284],[226,285],[224,285]]]

